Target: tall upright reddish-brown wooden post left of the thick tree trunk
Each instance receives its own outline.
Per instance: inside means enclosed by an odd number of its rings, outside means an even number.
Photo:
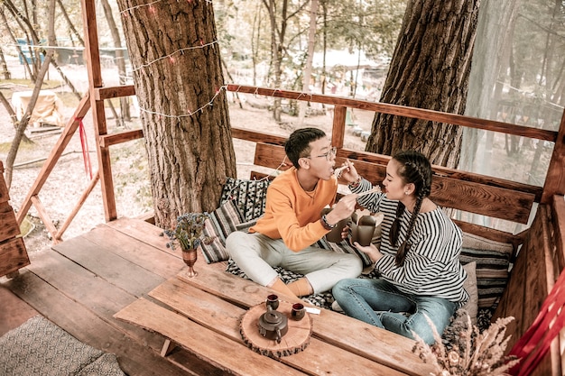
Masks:
[[[92,120],[97,143],[98,174],[100,177],[100,187],[102,188],[104,213],[106,221],[109,222],[117,218],[117,213],[110,151],[109,148],[100,144],[100,136],[107,134],[107,124],[106,114],[104,113],[104,100],[97,100],[96,96],[97,89],[102,87],[96,6],[94,1],[89,0],[81,0],[80,3],[82,5],[82,19],[86,43],[85,51],[87,56],[90,105],[92,107]]]

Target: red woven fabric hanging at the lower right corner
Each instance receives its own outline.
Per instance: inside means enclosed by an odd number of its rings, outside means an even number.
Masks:
[[[532,326],[518,340],[509,355],[517,356],[519,362],[510,373],[525,376],[532,373],[548,352],[551,341],[565,326],[565,272],[561,271],[550,294],[543,301],[540,313]]]

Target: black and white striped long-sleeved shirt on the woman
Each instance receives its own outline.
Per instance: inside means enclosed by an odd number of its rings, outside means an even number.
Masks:
[[[361,183],[351,190],[359,193],[370,188],[371,183],[362,179]],[[458,303],[459,306],[468,300],[468,293],[463,289],[467,272],[459,262],[461,229],[440,207],[428,213],[418,214],[409,239],[412,246],[406,253],[404,265],[399,268],[394,265],[397,248],[389,241],[399,202],[389,200],[385,193],[359,197],[357,202],[373,213],[384,214],[380,245],[383,257],[375,263],[375,269],[381,273],[384,280],[393,283],[407,294],[445,298]],[[399,245],[406,239],[411,218],[412,213],[404,209],[401,215]]]

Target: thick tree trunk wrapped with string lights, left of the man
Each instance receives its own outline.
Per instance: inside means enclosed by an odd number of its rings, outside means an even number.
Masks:
[[[118,1],[134,71],[156,225],[218,207],[236,156],[211,2]]]

